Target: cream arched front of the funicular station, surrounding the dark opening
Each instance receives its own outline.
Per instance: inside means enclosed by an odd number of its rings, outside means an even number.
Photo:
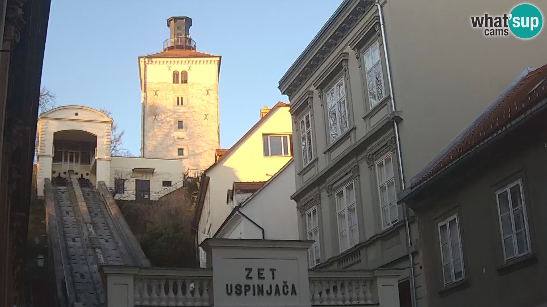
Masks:
[[[109,182],[110,129],[112,119],[95,109],[80,105],[67,105],[49,110],[38,118],[38,196],[43,196],[44,179],[52,177],[53,140],[55,132],[80,130],[96,135],[97,165],[96,181]],[[87,173],[87,172],[86,172]]]

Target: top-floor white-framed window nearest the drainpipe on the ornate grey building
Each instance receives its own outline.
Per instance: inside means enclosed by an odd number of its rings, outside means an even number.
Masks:
[[[376,42],[371,48],[364,52],[366,87],[369,91],[370,108],[385,97],[383,85],[382,61],[380,58],[380,46]]]

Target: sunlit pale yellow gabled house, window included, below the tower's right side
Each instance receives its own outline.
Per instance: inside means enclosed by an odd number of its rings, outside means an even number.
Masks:
[[[267,112],[266,112],[267,111]],[[196,241],[212,238],[232,211],[227,200],[234,182],[267,181],[292,158],[289,105],[278,102],[260,111],[260,120],[201,178],[194,215]]]

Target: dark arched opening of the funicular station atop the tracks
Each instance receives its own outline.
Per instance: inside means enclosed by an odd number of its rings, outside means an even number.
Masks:
[[[68,178],[73,170],[79,178],[90,179],[97,156],[97,136],[82,130],[63,130],[53,135],[54,177]],[[94,172],[93,172],[94,173]]]

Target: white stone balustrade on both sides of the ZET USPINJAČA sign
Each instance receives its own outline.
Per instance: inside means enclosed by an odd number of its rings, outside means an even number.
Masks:
[[[107,306],[214,305],[211,269],[107,266],[103,273],[107,276]],[[310,305],[396,307],[400,273],[401,270],[310,270]]]

